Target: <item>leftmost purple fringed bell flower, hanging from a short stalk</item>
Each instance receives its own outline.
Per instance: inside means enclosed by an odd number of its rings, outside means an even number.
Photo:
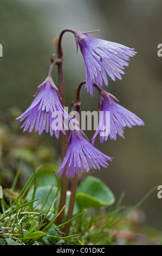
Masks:
[[[50,135],[53,136],[52,129],[52,113],[55,111],[59,111],[65,118],[68,118],[68,114],[64,112],[64,109],[60,103],[58,89],[56,88],[51,77],[47,77],[46,80],[38,86],[37,92],[35,93],[34,101],[31,103],[30,107],[21,114],[20,121],[23,121],[27,118],[21,128],[24,127],[24,132],[29,128],[29,132],[31,132],[35,126],[35,132],[38,131],[39,135],[46,130],[50,132]],[[62,123],[64,125],[63,119]],[[61,129],[60,129],[61,130]],[[56,138],[59,138],[59,129],[55,130]],[[65,131],[62,129],[62,132]]]

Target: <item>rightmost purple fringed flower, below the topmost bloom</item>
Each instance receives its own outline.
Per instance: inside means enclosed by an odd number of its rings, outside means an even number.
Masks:
[[[102,96],[101,111],[103,113],[100,115],[98,129],[92,138],[92,144],[94,144],[98,133],[100,133],[100,142],[103,143],[108,138],[108,132],[106,131],[109,131],[109,137],[115,140],[116,133],[124,138],[123,133],[126,126],[132,128],[134,125],[144,125],[144,122],[137,115],[120,106],[108,94],[103,94]],[[107,113],[109,112],[108,122],[106,120],[106,111]]]

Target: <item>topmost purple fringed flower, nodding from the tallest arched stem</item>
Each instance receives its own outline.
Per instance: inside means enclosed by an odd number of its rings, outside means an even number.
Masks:
[[[95,31],[97,32],[97,31]],[[135,55],[132,48],[96,39],[89,36],[90,32],[76,32],[76,43],[79,44],[86,67],[86,88],[90,95],[93,95],[92,83],[95,82],[102,86],[102,79],[108,85],[107,75],[115,81],[115,77],[121,80],[124,73],[124,66],[128,66],[129,57]],[[92,32],[91,32],[92,33]]]

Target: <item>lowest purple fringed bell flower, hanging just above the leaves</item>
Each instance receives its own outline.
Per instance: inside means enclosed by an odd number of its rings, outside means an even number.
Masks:
[[[56,174],[63,174],[66,171],[66,176],[79,174],[81,172],[89,172],[89,169],[100,169],[100,166],[107,167],[107,161],[112,161],[112,157],[106,156],[90,144],[86,138],[82,136],[81,131],[70,131],[70,140],[66,156]],[[67,165],[67,169],[66,169]]]

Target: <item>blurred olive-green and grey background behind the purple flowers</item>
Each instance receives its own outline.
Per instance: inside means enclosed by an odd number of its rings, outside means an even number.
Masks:
[[[108,88],[105,88],[120,100],[120,105],[144,120],[145,126],[127,128],[125,139],[118,136],[116,141],[108,139],[101,145],[99,140],[96,141],[96,147],[108,156],[113,156],[114,160],[107,169],[102,168],[91,174],[105,181],[117,199],[121,192],[125,191],[124,203],[128,206],[139,202],[153,186],[161,185],[162,57],[157,55],[157,46],[162,43],[161,17],[160,0],[1,0],[1,167],[12,169],[11,160],[16,158],[16,154],[20,154],[17,151],[15,153],[15,147],[16,150],[21,150],[22,145],[24,148],[26,145],[30,148],[28,138],[27,143],[24,137],[28,136],[28,132],[23,135],[21,125],[15,118],[27,109],[33,100],[36,87],[48,74],[50,56],[55,53],[53,38],[59,36],[64,28],[80,31],[100,29],[94,36],[119,42],[135,48],[138,52],[131,58],[122,80],[113,82],[109,79]],[[85,80],[85,65],[81,53],[76,54],[72,34],[64,35],[62,46],[66,105],[70,107],[70,102],[74,100],[74,89]],[[53,78],[57,86],[56,71],[57,69],[54,70]],[[85,89],[82,90],[81,97],[82,110],[96,109],[96,93],[91,98]],[[11,121],[6,119],[6,115],[7,118],[11,117]],[[17,137],[13,139],[10,133]],[[4,141],[4,134],[7,142]],[[92,137],[93,133],[88,132],[87,135]],[[48,135],[42,135],[41,138],[42,143],[38,141],[37,135],[30,137],[31,140],[34,139],[31,145],[35,144],[33,150],[38,157],[36,164],[44,163],[44,160],[46,164],[59,164],[60,141],[50,139]],[[49,151],[46,151],[46,148]],[[12,151],[11,155],[14,154],[15,158],[10,155],[8,160],[8,151]],[[26,152],[24,154],[27,156]],[[5,169],[1,168],[2,180]],[[12,176],[10,179],[12,180]],[[162,199],[158,199],[154,193],[142,206],[142,210],[146,214],[145,223],[161,230]]]

